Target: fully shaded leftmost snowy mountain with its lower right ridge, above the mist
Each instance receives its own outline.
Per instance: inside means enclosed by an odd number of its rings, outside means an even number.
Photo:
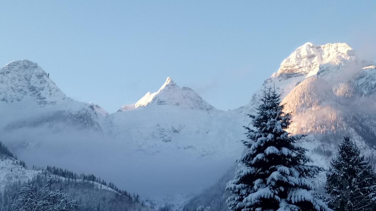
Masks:
[[[6,130],[56,124],[101,130],[107,113],[98,105],[68,98],[37,63],[10,62],[0,69],[0,124]]]

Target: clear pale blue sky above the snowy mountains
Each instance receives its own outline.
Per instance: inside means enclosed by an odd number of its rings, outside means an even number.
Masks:
[[[235,109],[305,42],[376,58],[376,1],[1,1],[0,65],[29,59],[108,112],[171,77]]]

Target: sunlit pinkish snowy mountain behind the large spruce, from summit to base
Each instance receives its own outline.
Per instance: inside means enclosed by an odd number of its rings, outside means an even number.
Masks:
[[[289,132],[307,135],[298,144],[318,166],[328,167],[344,136],[356,141],[371,162],[376,154],[376,69],[373,62],[358,58],[345,43],[315,46],[306,43],[285,59],[277,72],[262,87],[275,87],[282,93],[286,112],[293,122]],[[261,92],[249,104],[234,112],[254,113]],[[244,119],[244,124],[250,119]],[[193,197],[186,208],[225,211],[224,191],[233,169],[212,187]],[[325,172],[315,180],[322,191]],[[219,200],[218,200],[219,199]]]

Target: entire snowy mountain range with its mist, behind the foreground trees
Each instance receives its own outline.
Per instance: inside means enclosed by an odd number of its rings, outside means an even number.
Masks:
[[[347,135],[373,161],[376,66],[349,45],[306,43],[262,87],[282,93],[293,116],[289,132],[306,135],[299,144],[315,164],[326,168]],[[158,206],[225,210],[224,185],[260,95],[222,111],[168,77],[109,114],[67,97],[36,63],[18,60],[0,69],[0,139],[28,166],[96,173]],[[321,174],[318,189],[323,182]]]

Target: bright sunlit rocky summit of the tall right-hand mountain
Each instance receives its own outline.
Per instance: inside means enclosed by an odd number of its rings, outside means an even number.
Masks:
[[[346,43],[334,43],[316,46],[310,42],[297,48],[280,65],[277,77],[290,78],[297,75],[315,75],[320,65],[340,65],[353,61],[358,62],[355,51]]]

